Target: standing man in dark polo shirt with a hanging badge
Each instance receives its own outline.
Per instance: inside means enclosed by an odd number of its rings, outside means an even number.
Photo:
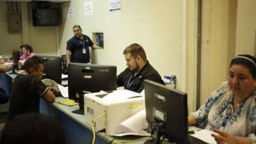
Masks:
[[[102,49],[96,44],[93,44],[92,40],[83,35],[82,29],[79,25],[73,26],[74,36],[67,42],[67,65],[68,63],[89,63],[90,62],[90,49]]]

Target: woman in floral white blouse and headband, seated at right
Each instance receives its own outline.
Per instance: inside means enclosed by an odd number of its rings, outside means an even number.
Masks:
[[[221,83],[198,111],[188,116],[189,125],[216,132],[217,143],[256,143],[256,58],[234,57],[228,80]]]

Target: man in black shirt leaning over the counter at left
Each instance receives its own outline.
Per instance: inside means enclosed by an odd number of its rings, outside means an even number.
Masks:
[[[42,83],[44,64],[41,58],[33,56],[24,63],[26,74],[13,79],[10,97],[9,119],[21,113],[39,113],[40,97],[54,102],[55,95]]]

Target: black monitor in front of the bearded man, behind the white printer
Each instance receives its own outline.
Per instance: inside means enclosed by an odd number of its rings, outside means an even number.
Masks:
[[[84,93],[116,90],[116,66],[69,63],[68,98]]]

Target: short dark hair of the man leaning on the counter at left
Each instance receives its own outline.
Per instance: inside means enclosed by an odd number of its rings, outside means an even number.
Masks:
[[[25,61],[23,68],[24,70],[26,70],[26,72],[30,73],[29,70],[31,68],[38,70],[38,68],[40,67],[39,64],[44,65],[44,61],[42,60],[42,58],[39,58],[38,56],[33,56],[32,58],[28,58],[28,60]]]

